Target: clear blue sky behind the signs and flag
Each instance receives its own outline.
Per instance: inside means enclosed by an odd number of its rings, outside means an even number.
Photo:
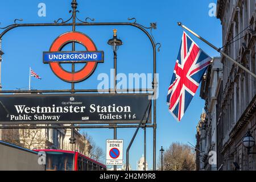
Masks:
[[[46,17],[38,16],[38,4],[46,3]],[[160,147],[166,149],[172,142],[196,143],[196,125],[204,107],[204,101],[199,97],[199,90],[188,107],[182,121],[177,123],[168,112],[166,95],[171,81],[177,52],[179,50],[183,30],[176,25],[181,21],[187,27],[208,39],[217,47],[221,47],[221,25],[215,17],[210,17],[208,7],[216,0],[191,1],[92,1],[77,0],[77,14],[80,19],[95,18],[96,22],[127,22],[127,18],[137,18],[137,23],[149,26],[157,22],[153,31],[156,42],[162,44],[157,53],[157,72],[159,73],[159,99],[157,104],[157,159]],[[22,18],[23,23],[51,23],[58,18],[68,19],[71,14],[70,1],[4,1],[0,7],[0,27],[13,23],[16,18]],[[118,37],[123,46],[118,50],[118,73],[151,73],[152,49],[146,36],[134,27],[77,27],[77,31],[90,36],[98,50],[105,52],[105,63],[98,64],[94,74],[79,84],[77,89],[97,88],[100,73],[110,73],[113,68],[113,53],[108,46],[113,28],[118,29]],[[4,90],[26,88],[28,86],[28,71],[32,67],[43,79],[32,78],[34,89],[69,89],[67,84],[57,78],[48,64],[42,62],[42,52],[48,51],[57,36],[71,31],[72,27],[22,27],[8,32],[2,38],[2,50],[5,52],[2,61],[2,86]],[[190,34],[189,34],[190,35]],[[218,53],[191,35],[199,46],[210,56]],[[70,49],[70,47],[66,47]],[[65,65],[65,69],[71,67]],[[77,67],[81,68],[81,65]],[[113,130],[94,129],[88,132],[105,152],[105,140],[113,138]],[[118,139],[124,139],[125,150],[135,129],[118,129]],[[140,130],[130,150],[130,164],[136,169],[136,162],[143,154],[143,130]],[[125,156],[124,156],[125,159]],[[125,162],[125,161],[124,161]],[[147,162],[152,168],[152,129],[147,130]]]

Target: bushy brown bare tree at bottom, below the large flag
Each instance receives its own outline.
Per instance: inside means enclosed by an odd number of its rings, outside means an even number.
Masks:
[[[166,171],[194,171],[195,151],[187,144],[172,143],[163,154],[163,168]]]

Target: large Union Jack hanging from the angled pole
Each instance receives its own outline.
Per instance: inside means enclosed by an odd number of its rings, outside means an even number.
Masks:
[[[174,117],[181,121],[212,58],[183,32],[174,75],[168,89],[167,104]]]

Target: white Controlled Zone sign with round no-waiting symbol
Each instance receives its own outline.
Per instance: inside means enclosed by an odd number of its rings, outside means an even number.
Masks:
[[[106,140],[106,165],[123,165],[123,140]]]

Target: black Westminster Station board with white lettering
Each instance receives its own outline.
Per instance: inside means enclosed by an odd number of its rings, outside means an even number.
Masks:
[[[0,96],[1,123],[139,123],[150,94],[12,94]],[[148,121],[147,121],[148,119]],[[143,122],[151,122],[148,109]]]

